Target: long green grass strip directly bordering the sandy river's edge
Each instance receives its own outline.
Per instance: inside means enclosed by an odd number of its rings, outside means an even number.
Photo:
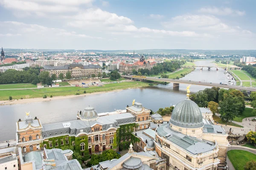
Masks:
[[[93,86],[89,88],[81,87],[58,87],[58,88],[41,88],[41,89],[25,89],[25,90],[3,90],[0,92],[0,100],[8,100],[9,96],[12,96],[13,99],[26,99],[26,98],[35,98],[47,96],[68,96],[75,95],[76,93],[83,94],[93,93],[99,91],[112,91],[117,89],[126,89],[126,88],[137,88],[149,86],[147,82],[120,82],[120,83],[111,83],[106,84],[102,87]]]

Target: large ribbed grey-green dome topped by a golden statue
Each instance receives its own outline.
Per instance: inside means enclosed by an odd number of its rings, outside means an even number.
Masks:
[[[179,127],[188,128],[204,126],[200,108],[188,97],[175,106],[172,111],[170,123]]]

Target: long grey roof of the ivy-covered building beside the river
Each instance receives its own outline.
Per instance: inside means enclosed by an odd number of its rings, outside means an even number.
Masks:
[[[90,119],[89,119],[90,120]],[[102,125],[102,131],[108,130],[111,127],[118,128],[119,125],[135,122],[135,117],[131,113],[120,113],[115,115],[100,116],[93,121],[87,120],[72,120],[66,122],[57,122],[43,125],[42,136],[48,138],[52,136],[76,136],[79,133],[90,134],[91,127],[95,124]]]

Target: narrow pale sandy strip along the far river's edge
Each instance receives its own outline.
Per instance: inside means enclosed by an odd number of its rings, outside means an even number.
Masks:
[[[129,88],[130,89],[130,88]],[[113,90],[113,91],[122,91],[125,89],[118,89],[118,90]],[[51,101],[51,100],[58,100],[58,99],[68,99],[68,98],[73,98],[73,97],[78,97],[78,96],[88,96],[88,95],[93,95],[93,94],[102,94],[102,93],[108,93],[108,92],[113,92],[113,91],[100,91],[100,92],[95,92],[95,93],[87,93],[87,94],[80,94],[80,95],[70,95],[70,96],[54,96],[54,97],[47,97],[47,98],[31,98],[31,99],[15,99],[15,100],[2,100],[0,101],[0,105],[16,105],[16,104],[26,104],[26,103],[33,103],[33,102],[44,102],[44,101]]]

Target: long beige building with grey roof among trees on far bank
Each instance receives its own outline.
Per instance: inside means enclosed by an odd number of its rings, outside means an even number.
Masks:
[[[61,73],[66,76],[66,73],[70,71],[71,77],[91,77],[92,74],[96,76],[102,73],[102,69],[99,65],[81,65],[81,64],[69,64],[64,66],[50,66],[45,65],[44,70],[48,71],[50,76],[56,74],[58,78]]]

